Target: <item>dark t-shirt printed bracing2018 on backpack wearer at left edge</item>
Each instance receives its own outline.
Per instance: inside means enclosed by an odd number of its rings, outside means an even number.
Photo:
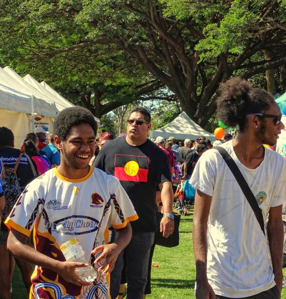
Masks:
[[[0,147],[0,159],[2,160],[4,167],[14,168],[19,154],[19,149]],[[32,163],[37,171],[37,166],[33,160]],[[23,191],[27,184],[35,178],[26,154],[23,154],[21,157],[21,161],[17,169],[17,177],[21,191]]]

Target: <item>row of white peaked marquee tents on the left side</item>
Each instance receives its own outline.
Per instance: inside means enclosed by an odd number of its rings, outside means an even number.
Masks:
[[[0,68],[0,126],[13,131],[16,148],[35,127],[52,132],[57,114],[73,106],[46,83],[39,84],[30,75],[21,78],[9,66]]]

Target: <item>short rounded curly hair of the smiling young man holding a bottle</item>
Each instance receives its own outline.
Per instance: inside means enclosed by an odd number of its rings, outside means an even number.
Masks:
[[[89,124],[96,135],[97,124],[92,113],[84,107],[69,107],[62,110],[54,123],[54,135],[65,140],[74,126]]]

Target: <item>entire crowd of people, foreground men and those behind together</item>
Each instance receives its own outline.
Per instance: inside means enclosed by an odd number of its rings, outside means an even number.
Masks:
[[[37,127],[21,149],[0,127],[0,297],[11,298],[16,262],[32,299],[144,299],[156,211],[168,238],[174,193],[187,180],[196,190],[195,297],[280,298],[286,161],[263,146],[275,145],[284,129],[280,109],[266,91],[234,78],[219,89],[217,116],[238,126],[234,139],[153,142],[144,107],[133,108],[126,136],[115,139],[103,132],[96,140],[95,119],[83,107],[61,111],[53,134]],[[63,255],[59,224],[76,235],[95,281],[76,273],[87,263]]]

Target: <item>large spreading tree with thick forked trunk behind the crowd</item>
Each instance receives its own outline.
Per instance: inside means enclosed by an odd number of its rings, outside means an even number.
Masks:
[[[201,126],[214,113],[222,81],[237,74],[249,79],[286,64],[285,0],[2,3],[0,25],[12,45],[18,43],[14,48],[23,43],[31,57],[42,58],[96,55],[101,47],[124,51]]]

